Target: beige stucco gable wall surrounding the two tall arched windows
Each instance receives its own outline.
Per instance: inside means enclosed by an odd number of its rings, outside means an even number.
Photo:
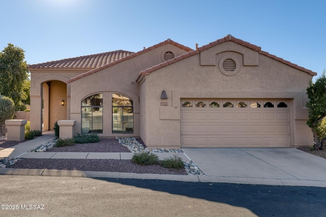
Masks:
[[[76,132],[81,132],[81,102],[88,96],[103,94],[103,134],[100,137],[133,136],[141,135],[141,105],[139,97],[140,86],[136,79],[141,70],[152,67],[165,61],[164,53],[172,51],[180,55],[186,51],[171,44],[150,50],[141,55],[132,57],[119,64],[110,66],[101,71],[89,74],[83,78],[70,82],[70,118],[77,120]],[[122,94],[133,101],[133,133],[112,133],[112,94]]]

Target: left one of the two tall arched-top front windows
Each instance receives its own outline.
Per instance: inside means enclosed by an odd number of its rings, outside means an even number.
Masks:
[[[103,133],[103,94],[82,101],[82,133]]]

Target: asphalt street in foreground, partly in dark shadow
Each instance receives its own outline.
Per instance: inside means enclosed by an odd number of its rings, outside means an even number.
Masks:
[[[0,175],[0,216],[326,216],[326,188]]]

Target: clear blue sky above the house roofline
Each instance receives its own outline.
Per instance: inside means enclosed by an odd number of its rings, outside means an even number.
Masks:
[[[0,0],[0,49],[14,44],[37,64],[168,38],[195,49],[231,34],[320,75],[325,9],[323,0]]]

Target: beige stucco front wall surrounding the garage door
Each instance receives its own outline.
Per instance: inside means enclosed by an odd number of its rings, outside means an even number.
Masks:
[[[220,60],[225,57],[236,59],[236,74],[227,76],[221,72]],[[311,145],[312,134],[304,123],[308,117],[306,88],[312,75],[247,47],[226,42],[222,47],[208,49],[205,55],[196,54],[155,70],[145,79],[142,85],[146,89],[141,88],[140,96],[141,102],[146,101],[141,113],[145,117],[141,119],[146,120],[142,135],[146,134],[143,140],[147,146],[180,147],[182,98],[290,99],[291,145]],[[162,90],[166,90],[169,99],[160,99]],[[168,106],[161,106],[161,102]]]

